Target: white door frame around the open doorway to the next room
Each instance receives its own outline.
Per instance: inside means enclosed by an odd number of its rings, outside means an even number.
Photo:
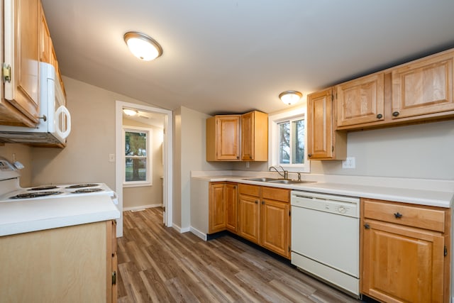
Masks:
[[[162,142],[162,155],[164,165],[164,189],[162,192],[162,203],[165,207],[163,215],[164,225],[172,226],[172,170],[173,170],[173,112],[167,109],[160,109],[153,106],[128,103],[116,100],[115,104],[115,187],[118,197],[118,209],[121,212],[121,219],[117,224],[117,237],[123,236],[123,108],[150,111],[157,114],[165,114],[164,140]]]

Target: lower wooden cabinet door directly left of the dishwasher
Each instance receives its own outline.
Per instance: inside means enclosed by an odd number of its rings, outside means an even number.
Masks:
[[[289,203],[262,199],[260,217],[260,244],[289,258]]]

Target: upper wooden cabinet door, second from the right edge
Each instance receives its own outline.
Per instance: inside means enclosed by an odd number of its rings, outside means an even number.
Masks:
[[[384,120],[384,74],[374,74],[336,86],[337,126]]]

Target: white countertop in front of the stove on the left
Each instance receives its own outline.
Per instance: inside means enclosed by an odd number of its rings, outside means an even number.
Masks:
[[[108,194],[0,202],[0,236],[118,218]]]

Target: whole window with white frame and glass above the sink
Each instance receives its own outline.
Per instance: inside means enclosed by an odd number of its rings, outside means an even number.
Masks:
[[[270,116],[270,165],[281,165],[289,172],[310,171],[305,114],[303,106]]]

